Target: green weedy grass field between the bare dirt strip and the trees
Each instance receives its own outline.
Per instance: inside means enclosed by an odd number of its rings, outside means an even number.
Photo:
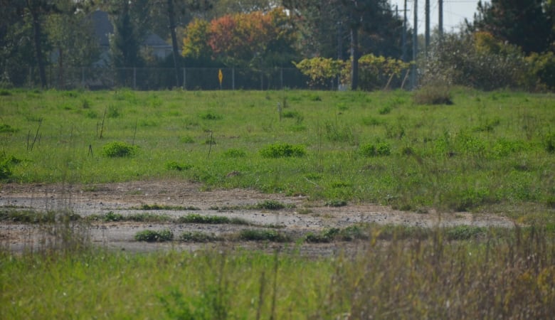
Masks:
[[[453,105],[416,105],[402,91],[3,92],[4,181],[171,177],[517,215],[555,203],[553,95],[460,88]]]

